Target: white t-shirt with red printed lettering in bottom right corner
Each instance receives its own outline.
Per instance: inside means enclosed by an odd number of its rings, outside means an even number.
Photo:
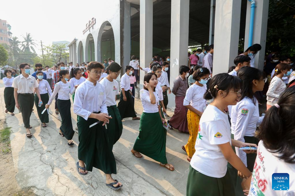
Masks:
[[[259,142],[249,190],[250,196],[295,195],[295,164],[286,163],[277,156],[277,153],[271,153],[264,147],[263,141]],[[273,185],[273,173],[288,173],[289,187],[283,188],[282,190],[280,190],[281,187],[277,189],[281,185]]]

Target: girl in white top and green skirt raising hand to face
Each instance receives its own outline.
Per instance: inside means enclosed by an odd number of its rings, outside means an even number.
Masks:
[[[174,171],[173,165],[168,164],[166,158],[167,131],[163,128],[163,123],[166,121],[158,109],[160,92],[156,89],[157,75],[145,74],[143,86],[140,90],[143,113],[140,118],[139,135],[131,153],[137,158],[142,158],[144,154],[160,162],[161,167]]]

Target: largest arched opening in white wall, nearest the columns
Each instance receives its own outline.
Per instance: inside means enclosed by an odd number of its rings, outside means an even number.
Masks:
[[[97,61],[103,62],[106,58],[115,59],[114,31],[109,21],[104,21],[98,32]]]

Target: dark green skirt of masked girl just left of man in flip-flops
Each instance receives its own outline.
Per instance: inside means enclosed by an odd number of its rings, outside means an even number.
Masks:
[[[72,117],[71,117],[71,101],[58,99],[58,111],[61,117],[60,130],[67,140],[71,140],[74,135]]]

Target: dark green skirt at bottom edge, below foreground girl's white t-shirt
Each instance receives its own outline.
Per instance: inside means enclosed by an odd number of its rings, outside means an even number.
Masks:
[[[224,177],[210,177],[195,170],[189,165],[189,175],[186,184],[187,196],[234,196],[234,187],[230,181],[230,173]]]

